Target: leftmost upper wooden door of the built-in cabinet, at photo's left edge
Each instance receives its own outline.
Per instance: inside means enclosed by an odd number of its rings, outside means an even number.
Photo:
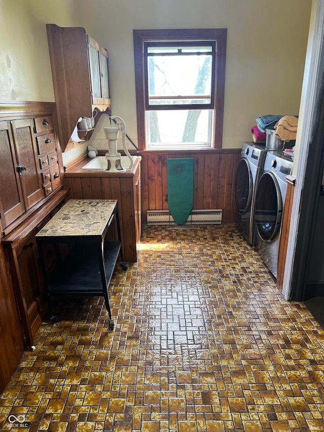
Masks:
[[[0,161],[0,211],[5,228],[25,211],[10,122],[0,122]]]

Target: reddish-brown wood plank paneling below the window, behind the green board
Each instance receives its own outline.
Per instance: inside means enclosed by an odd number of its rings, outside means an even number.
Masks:
[[[167,160],[194,159],[193,209],[223,210],[222,222],[235,222],[234,182],[240,149],[168,153],[140,152],[142,220],[147,210],[167,210]]]

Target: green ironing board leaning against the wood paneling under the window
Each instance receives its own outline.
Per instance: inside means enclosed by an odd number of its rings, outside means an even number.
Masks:
[[[193,158],[168,159],[168,206],[178,225],[188,219],[193,206]]]

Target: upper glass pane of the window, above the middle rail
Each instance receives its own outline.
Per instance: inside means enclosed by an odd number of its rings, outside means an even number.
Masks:
[[[210,54],[148,57],[149,105],[211,103],[211,84]]]

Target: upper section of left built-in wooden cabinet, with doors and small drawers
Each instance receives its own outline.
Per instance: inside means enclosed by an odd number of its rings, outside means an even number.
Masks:
[[[0,107],[0,120],[1,114]],[[51,114],[0,121],[0,213],[5,232],[61,186],[53,128]]]

